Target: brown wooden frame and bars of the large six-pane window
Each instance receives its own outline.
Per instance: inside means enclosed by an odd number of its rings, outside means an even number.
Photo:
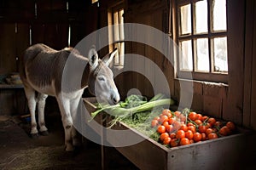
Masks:
[[[182,79],[189,79],[192,78],[197,81],[203,81],[203,82],[223,82],[228,83],[228,74],[227,72],[221,72],[221,71],[214,71],[214,55],[213,55],[213,38],[215,37],[226,37],[227,43],[228,43],[228,28],[226,28],[225,31],[213,31],[213,20],[212,20],[212,12],[211,12],[211,5],[212,0],[207,0],[207,32],[204,33],[195,33],[195,3],[198,0],[172,0],[172,23],[173,23],[173,40],[177,43],[177,46],[180,47],[180,42],[185,40],[191,41],[191,47],[192,47],[192,63],[193,63],[193,69],[192,71],[185,71],[181,69],[180,65],[180,57],[177,53],[176,57],[176,77],[182,78]],[[181,31],[181,23],[180,23],[180,7],[190,4],[191,5],[191,33],[182,35],[180,33]],[[210,12],[209,12],[210,11]],[[226,10],[226,17],[228,16],[228,11]],[[226,22],[226,26],[228,26],[228,23]],[[196,59],[195,59],[195,53],[196,53],[196,46],[195,42],[198,38],[207,38],[208,39],[208,51],[209,51],[209,71],[195,71],[196,66]],[[227,45],[228,47],[228,45]],[[181,51],[181,50],[180,50]],[[228,48],[227,48],[227,57],[228,57]],[[229,57],[228,57],[229,59]]]

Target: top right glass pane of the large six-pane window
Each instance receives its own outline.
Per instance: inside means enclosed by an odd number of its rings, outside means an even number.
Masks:
[[[213,31],[227,30],[226,1],[213,0]]]

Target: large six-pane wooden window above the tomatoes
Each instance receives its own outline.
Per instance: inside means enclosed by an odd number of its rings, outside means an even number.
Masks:
[[[225,0],[176,1],[178,77],[192,72],[195,80],[227,82],[227,21]]]

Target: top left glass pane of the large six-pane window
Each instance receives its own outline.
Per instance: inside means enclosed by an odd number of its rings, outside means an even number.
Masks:
[[[180,7],[180,25],[182,35],[191,33],[190,4]]]

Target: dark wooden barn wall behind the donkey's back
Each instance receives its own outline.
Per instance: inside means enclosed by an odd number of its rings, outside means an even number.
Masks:
[[[18,71],[30,34],[32,44],[61,49],[68,45],[71,26],[70,45],[75,46],[96,30],[96,15],[96,4],[84,0],[0,0],[0,74]]]

